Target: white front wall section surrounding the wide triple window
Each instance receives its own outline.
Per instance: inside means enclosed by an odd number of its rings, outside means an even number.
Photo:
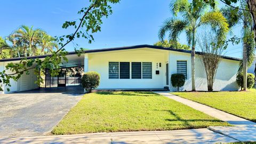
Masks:
[[[89,54],[89,71],[100,74],[98,89],[163,89],[165,81],[165,63],[168,51],[153,49],[134,49]],[[109,79],[109,62],[152,62],[152,79]],[[159,67],[161,62],[162,66]],[[158,63],[158,67],[157,67]],[[159,70],[159,75],[155,71]]]

